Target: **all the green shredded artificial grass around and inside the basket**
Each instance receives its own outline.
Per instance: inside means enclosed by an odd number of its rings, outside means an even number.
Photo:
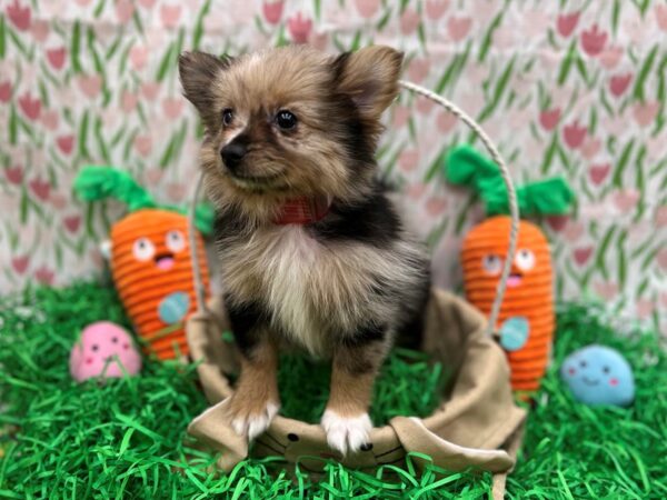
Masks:
[[[113,291],[96,283],[0,299],[0,498],[489,496],[488,473],[429,467],[418,476],[410,461],[374,474],[327,462],[317,480],[298,470],[292,479],[279,458],[246,460],[229,474],[208,472],[216,457],[185,432],[207,406],[192,366],[146,360],[137,378],[71,381],[70,347],[82,327],[101,319],[127,326]],[[557,336],[556,363],[537,396],[508,497],[666,498],[667,356],[657,333],[617,336],[598,309],[570,304],[558,313]],[[559,383],[559,361],[591,342],[621,350],[635,368],[631,408],[576,403]],[[397,350],[378,382],[375,421],[397,411],[430,412],[441,371]],[[283,359],[282,412],[317,421],[327,380],[320,366]]]

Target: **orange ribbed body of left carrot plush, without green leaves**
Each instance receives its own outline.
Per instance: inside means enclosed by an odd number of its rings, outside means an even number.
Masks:
[[[187,219],[158,209],[133,212],[111,230],[113,280],[139,336],[159,358],[188,353],[183,321],[195,311]],[[203,242],[197,249],[206,262]],[[203,269],[208,287],[208,272]]]

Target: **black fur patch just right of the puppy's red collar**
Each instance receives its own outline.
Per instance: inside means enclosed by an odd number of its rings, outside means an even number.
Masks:
[[[359,204],[334,203],[330,216],[312,226],[315,236],[323,241],[351,240],[377,248],[395,242],[400,229],[398,216],[379,189]]]

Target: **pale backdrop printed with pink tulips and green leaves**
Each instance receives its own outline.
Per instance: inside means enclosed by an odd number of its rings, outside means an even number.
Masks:
[[[2,0],[0,292],[101,268],[98,242],[122,207],[72,198],[87,162],[186,201],[198,124],[180,96],[181,50],[375,42],[402,49],[407,79],[475,116],[517,180],[569,179],[574,217],[541,221],[561,297],[600,298],[667,333],[666,39],[661,0]],[[408,94],[387,124],[381,166],[434,249],[438,282],[455,287],[481,211],[444,184],[438,159],[470,134]]]

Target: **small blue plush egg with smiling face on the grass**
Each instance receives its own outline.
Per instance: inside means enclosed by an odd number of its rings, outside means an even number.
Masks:
[[[633,369],[620,352],[605,346],[588,346],[563,362],[560,377],[586,404],[627,407],[635,399]]]

